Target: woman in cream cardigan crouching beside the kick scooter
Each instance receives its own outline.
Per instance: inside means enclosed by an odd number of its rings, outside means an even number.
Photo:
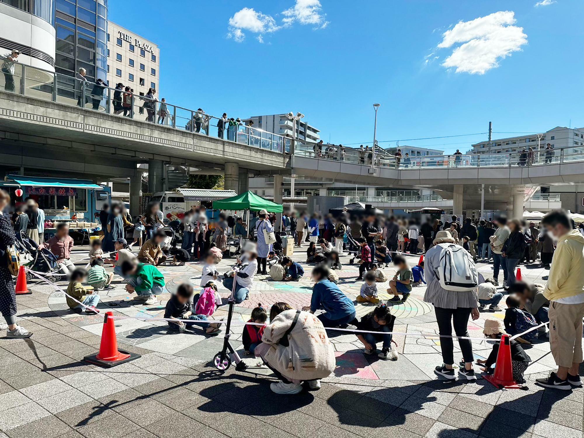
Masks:
[[[311,390],[318,390],[320,379],[331,374],[336,364],[322,322],[287,303],[272,306],[270,324],[254,352],[280,378],[280,382],[270,385],[276,394],[298,394],[303,381]]]

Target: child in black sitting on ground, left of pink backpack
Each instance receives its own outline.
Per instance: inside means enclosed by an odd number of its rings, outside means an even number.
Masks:
[[[166,303],[164,317],[170,319],[189,319],[190,321],[207,321],[205,315],[195,315],[193,311],[193,286],[187,283],[181,284],[176,293],[171,296],[171,299]],[[186,321],[168,321],[168,329],[172,332],[183,333],[185,329],[192,328],[194,322]],[[205,331],[207,335],[220,332],[219,324],[201,323],[196,324]]]

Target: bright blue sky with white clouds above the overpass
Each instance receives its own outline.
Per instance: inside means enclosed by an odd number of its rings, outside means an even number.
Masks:
[[[109,15],[160,46],[169,103],[300,111],[325,141],[358,145],[373,142],[378,102],[385,147],[485,133],[489,121],[493,138],[584,126],[584,2],[536,2],[124,0]],[[464,152],[485,138],[400,144]]]

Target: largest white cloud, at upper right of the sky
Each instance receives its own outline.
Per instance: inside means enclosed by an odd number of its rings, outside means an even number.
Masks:
[[[547,0],[544,0],[547,1]],[[438,48],[454,48],[442,63],[443,67],[456,68],[457,73],[484,74],[499,67],[499,60],[521,50],[527,44],[523,27],[516,23],[515,12],[499,11],[467,22],[460,21],[442,34]]]

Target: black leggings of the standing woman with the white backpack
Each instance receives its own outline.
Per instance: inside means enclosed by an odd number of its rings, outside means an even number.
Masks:
[[[456,309],[443,309],[434,307],[436,312],[436,322],[440,335],[452,335],[452,326],[457,336],[468,336],[468,318],[471,315],[470,307],[458,307]],[[451,322],[453,321],[453,322]],[[465,362],[472,362],[472,342],[470,339],[458,339],[458,345],[463,353]],[[447,365],[454,364],[454,342],[453,338],[440,338],[440,349],[442,349],[442,360]]]

